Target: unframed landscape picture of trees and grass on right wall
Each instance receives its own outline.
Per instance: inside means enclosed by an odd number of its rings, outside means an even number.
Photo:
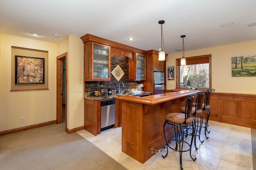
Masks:
[[[232,57],[232,77],[256,76],[256,55]]]

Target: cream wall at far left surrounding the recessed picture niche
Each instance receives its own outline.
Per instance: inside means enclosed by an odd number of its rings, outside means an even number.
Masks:
[[[48,51],[49,90],[10,92],[12,46]],[[57,44],[0,34],[0,131],[56,120],[56,56]]]

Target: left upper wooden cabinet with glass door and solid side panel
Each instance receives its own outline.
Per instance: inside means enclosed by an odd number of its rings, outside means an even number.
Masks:
[[[110,46],[84,43],[84,81],[111,81]]]

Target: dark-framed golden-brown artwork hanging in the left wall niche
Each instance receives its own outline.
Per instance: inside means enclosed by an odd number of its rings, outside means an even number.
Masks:
[[[44,60],[15,55],[15,84],[44,84]]]

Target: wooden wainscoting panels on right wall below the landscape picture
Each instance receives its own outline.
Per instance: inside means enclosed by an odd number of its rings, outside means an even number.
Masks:
[[[255,94],[212,92],[210,106],[210,120],[256,129]]]

